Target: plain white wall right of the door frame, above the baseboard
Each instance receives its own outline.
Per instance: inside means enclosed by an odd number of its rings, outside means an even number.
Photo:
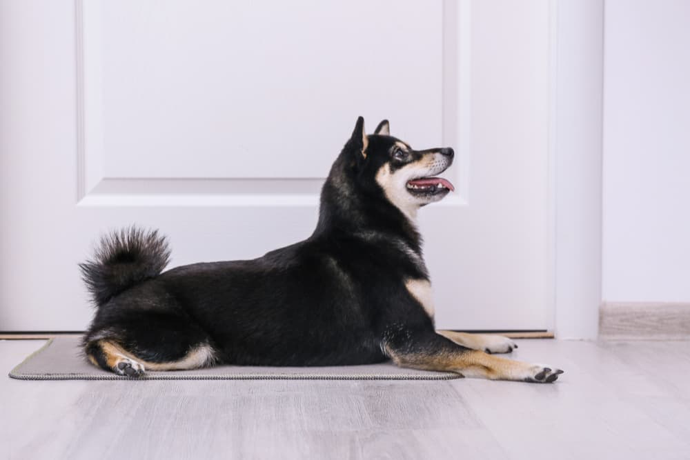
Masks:
[[[690,2],[607,0],[604,301],[690,301]]]

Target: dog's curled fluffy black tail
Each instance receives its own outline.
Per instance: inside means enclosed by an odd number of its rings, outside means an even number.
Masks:
[[[102,306],[120,292],[160,274],[170,260],[164,236],[134,227],[101,237],[92,259],[79,264],[93,301]]]

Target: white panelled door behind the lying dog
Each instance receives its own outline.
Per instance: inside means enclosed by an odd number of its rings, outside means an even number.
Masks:
[[[553,326],[548,1],[4,2],[0,34],[0,330],[86,328],[110,229],[173,266],[304,239],[360,114],[455,148],[437,326]]]

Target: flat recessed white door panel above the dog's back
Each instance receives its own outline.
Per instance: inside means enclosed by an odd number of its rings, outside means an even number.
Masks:
[[[104,173],[320,178],[360,112],[438,143],[441,7],[84,2],[85,43],[99,42],[85,48],[86,83],[102,94],[86,124],[102,124]]]

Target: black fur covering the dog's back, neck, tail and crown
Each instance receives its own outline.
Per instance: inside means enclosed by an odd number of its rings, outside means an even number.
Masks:
[[[420,234],[375,180],[392,164],[397,139],[364,139],[363,123],[333,163],[304,241],[258,259],[160,273],[168,248],[156,232],[103,239],[81,266],[99,306],[85,346],[105,337],[166,362],[208,343],[220,363],[272,366],[384,361],[386,346],[414,334],[450,346],[405,286],[428,279]],[[439,151],[411,150],[407,161]]]

